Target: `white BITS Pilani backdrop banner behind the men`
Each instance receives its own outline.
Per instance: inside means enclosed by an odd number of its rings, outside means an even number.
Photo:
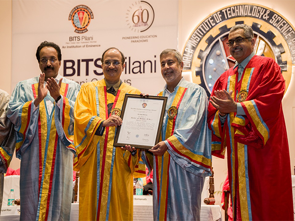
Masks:
[[[159,55],[177,49],[177,0],[13,0],[12,89],[40,75],[36,50],[59,45],[59,74],[80,84],[103,78],[101,55],[117,47],[126,57],[123,82],[155,94],[165,82]]]

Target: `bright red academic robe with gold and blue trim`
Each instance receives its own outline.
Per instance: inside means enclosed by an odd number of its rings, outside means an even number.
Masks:
[[[233,90],[246,115],[227,114],[221,126],[218,112],[208,107],[212,155],[224,158],[227,147],[234,219],[294,220],[289,146],[282,98],[285,82],[271,58],[254,55],[238,81],[237,68],[223,73],[213,90]],[[213,92],[212,92],[212,95]]]

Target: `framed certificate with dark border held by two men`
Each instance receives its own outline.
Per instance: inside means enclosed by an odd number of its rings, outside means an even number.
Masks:
[[[167,97],[126,94],[114,146],[150,149],[159,142]]]

